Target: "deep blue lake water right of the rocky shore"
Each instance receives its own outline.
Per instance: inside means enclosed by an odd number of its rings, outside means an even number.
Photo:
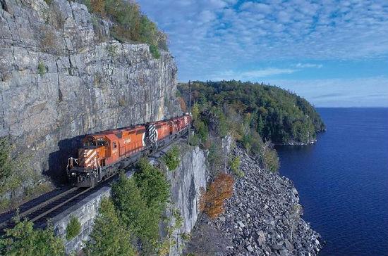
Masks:
[[[320,255],[388,255],[388,108],[321,108],[312,146],[277,148]]]

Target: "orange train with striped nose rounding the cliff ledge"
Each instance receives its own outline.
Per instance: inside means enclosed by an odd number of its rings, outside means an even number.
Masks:
[[[186,113],[171,120],[88,134],[78,149],[78,158],[68,158],[68,178],[73,186],[95,186],[186,134],[190,123],[191,116]]]

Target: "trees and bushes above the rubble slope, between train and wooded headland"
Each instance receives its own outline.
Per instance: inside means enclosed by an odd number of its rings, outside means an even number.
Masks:
[[[263,167],[276,172],[279,169],[277,152],[272,148],[272,143],[263,141],[257,132],[257,122],[255,122],[257,117],[253,113],[238,110],[234,103],[229,103],[227,100],[218,104],[214,98],[210,96],[206,98],[202,95],[206,93],[201,88],[202,84],[193,84],[194,104],[191,113],[195,134],[190,137],[190,143],[199,144],[209,150],[207,162],[212,172],[215,174],[224,172],[226,165],[233,163],[233,159],[229,159],[229,156],[222,151],[222,138],[227,134],[241,143],[249,153],[256,155]],[[188,95],[187,84],[180,84],[178,89],[181,96]],[[241,176],[237,169],[235,174]]]

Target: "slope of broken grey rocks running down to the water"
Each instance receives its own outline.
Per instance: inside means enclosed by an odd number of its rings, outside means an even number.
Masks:
[[[292,181],[261,169],[241,148],[245,176],[217,219],[203,215],[186,252],[195,255],[317,255],[320,234],[301,218]]]

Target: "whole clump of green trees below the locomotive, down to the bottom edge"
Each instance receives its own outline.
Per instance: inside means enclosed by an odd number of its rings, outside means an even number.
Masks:
[[[169,196],[169,184],[164,173],[147,160],[140,160],[138,172],[131,178],[122,173],[112,185],[111,199],[102,201],[98,225],[87,245],[88,252],[91,255],[94,255],[93,252],[133,255],[133,248],[141,248],[145,255],[156,254],[164,245],[159,237],[159,223],[162,222]],[[116,242],[110,245],[110,241]],[[132,246],[120,248],[119,241]],[[126,253],[119,253],[120,250]]]

